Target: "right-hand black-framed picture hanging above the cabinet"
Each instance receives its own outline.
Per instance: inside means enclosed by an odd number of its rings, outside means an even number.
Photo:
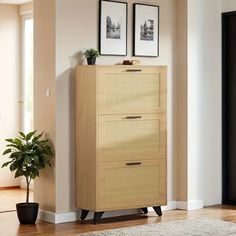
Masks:
[[[159,56],[159,6],[134,4],[133,55]]]

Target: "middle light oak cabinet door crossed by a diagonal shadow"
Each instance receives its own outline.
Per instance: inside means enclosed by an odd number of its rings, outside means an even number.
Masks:
[[[98,161],[156,159],[166,155],[164,114],[99,116]]]

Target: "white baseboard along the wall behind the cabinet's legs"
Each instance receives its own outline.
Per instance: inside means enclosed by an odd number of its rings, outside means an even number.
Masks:
[[[203,208],[203,202],[202,201],[189,201],[189,202],[183,202],[183,201],[169,201],[166,206],[162,206],[162,211],[168,211],[168,210],[175,210],[175,209],[181,209],[181,210],[195,210],[195,209],[201,209]],[[152,207],[148,208],[149,212],[154,211]],[[132,215],[137,214],[140,212],[138,209],[132,209],[132,210],[123,210],[123,211],[110,211],[105,212],[103,215],[103,218],[108,217],[115,217],[115,216],[122,216],[122,215]],[[53,224],[60,224],[60,223],[66,223],[71,221],[77,221],[80,219],[81,211],[74,211],[74,212],[66,212],[66,213],[55,213],[45,210],[39,210],[38,219],[47,221]],[[93,213],[89,212],[86,219],[93,219]]]

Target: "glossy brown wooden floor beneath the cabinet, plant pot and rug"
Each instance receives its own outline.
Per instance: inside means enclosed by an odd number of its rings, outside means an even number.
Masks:
[[[0,205],[3,205],[3,201],[6,202],[6,196],[11,199],[11,204],[19,202],[19,200],[24,196],[24,192],[21,191],[21,193],[18,195],[19,199],[17,201],[17,192],[11,191],[0,192]],[[10,201],[8,201],[7,204],[9,204],[9,202]],[[168,222],[181,219],[194,219],[201,217],[221,219],[224,221],[236,223],[236,206],[212,206],[201,210],[188,212],[181,210],[165,211],[163,212],[163,216],[161,218],[156,216],[154,212],[151,212],[148,215],[114,217],[109,219],[102,219],[101,222],[97,225],[94,225],[92,221],[85,221],[85,223],[83,224],[78,221],[58,225],[38,221],[35,225],[20,225],[16,216],[16,212],[3,212],[0,213],[0,236],[76,235],[83,232]]]

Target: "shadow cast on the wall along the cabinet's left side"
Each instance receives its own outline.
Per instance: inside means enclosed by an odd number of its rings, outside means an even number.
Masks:
[[[81,54],[73,56],[74,62]],[[71,67],[56,80],[56,145],[57,145],[57,202],[60,210],[75,209],[75,68]]]

